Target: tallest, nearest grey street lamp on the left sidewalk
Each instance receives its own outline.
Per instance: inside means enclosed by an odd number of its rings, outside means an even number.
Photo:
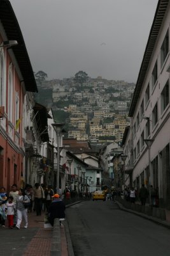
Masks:
[[[59,194],[59,177],[60,177],[60,147],[59,147],[59,136],[64,127],[64,123],[52,124],[54,131],[57,135],[57,194]]]

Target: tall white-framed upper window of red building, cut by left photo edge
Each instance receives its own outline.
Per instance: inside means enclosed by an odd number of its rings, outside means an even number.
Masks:
[[[6,109],[6,83],[5,83],[5,58],[4,51],[0,51],[0,106]]]

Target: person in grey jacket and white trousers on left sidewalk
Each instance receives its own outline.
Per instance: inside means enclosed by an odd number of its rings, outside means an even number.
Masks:
[[[24,189],[19,189],[18,197],[16,200],[17,207],[17,224],[16,228],[20,229],[20,224],[22,222],[22,218],[24,219],[24,228],[28,227],[28,217],[27,217],[27,208],[25,208],[24,204],[30,203],[30,200],[27,195],[25,195]]]

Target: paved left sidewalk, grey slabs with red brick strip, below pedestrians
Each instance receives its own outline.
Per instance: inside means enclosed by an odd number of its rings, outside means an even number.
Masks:
[[[53,228],[44,228],[44,214],[28,213],[28,228],[0,227],[1,256],[50,256]],[[65,225],[60,229],[61,256],[68,256]]]

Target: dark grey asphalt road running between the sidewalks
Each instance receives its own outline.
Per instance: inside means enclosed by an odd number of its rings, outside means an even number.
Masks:
[[[75,256],[169,256],[170,230],[118,209],[86,201],[66,210]]]

